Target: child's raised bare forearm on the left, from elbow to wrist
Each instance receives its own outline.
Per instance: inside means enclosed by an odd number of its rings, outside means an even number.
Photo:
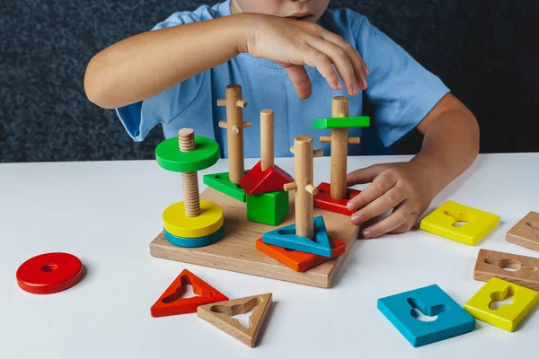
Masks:
[[[115,109],[145,100],[239,54],[245,14],[148,31],[92,58],[84,76],[90,101]]]

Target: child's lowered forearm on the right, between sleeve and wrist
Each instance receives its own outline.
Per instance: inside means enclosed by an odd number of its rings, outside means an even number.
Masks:
[[[434,197],[475,161],[480,132],[473,113],[464,106],[442,109],[430,120],[421,151],[411,162],[430,169],[430,189]],[[419,129],[421,131],[421,126]]]

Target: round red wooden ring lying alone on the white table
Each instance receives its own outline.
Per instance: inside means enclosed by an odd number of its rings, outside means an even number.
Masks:
[[[69,253],[45,253],[28,259],[17,269],[17,283],[34,294],[65,291],[80,282],[83,264]]]

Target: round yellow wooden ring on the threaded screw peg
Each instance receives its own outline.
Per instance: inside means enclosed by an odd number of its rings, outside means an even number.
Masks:
[[[216,232],[225,222],[223,209],[213,202],[200,199],[200,215],[185,215],[183,201],[168,206],[163,212],[163,227],[166,232],[183,238],[198,238]]]

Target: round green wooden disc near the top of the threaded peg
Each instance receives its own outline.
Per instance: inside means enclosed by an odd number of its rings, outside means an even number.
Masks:
[[[168,171],[201,171],[213,166],[219,160],[219,144],[208,137],[195,136],[195,151],[181,152],[178,136],[175,136],[157,145],[155,159]]]

